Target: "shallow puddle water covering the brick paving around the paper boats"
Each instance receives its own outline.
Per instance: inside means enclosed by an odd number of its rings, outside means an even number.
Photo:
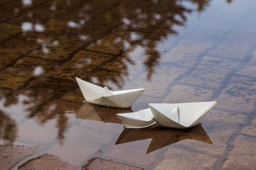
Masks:
[[[1,143],[81,167],[255,167],[256,1],[0,2]],[[75,76],[145,88],[129,109],[84,103]],[[188,131],[124,129],[148,103],[218,101]],[[237,160],[241,160],[240,162]],[[193,165],[191,165],[193,164]]]

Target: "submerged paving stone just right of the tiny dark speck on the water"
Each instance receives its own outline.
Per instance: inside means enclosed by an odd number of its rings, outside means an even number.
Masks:
[[[191,67],[198,55],[211,46],[212,43],[182,39],[177,46],[161,58],[161,62],[170,62],[176,66]]]

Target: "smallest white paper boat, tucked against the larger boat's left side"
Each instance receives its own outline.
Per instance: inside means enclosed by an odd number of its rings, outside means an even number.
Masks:
[[[116,114],[127,129],[140,129],[156,124],[150,108],[133,113]]]

